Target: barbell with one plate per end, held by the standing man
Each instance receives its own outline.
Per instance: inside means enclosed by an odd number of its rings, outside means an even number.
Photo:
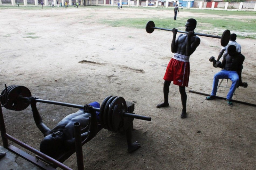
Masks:
[[[155,23],[153,21],[148,21],[147,24],[146,24],[146,32],[151,34],[151,33],[154,32],[155,29],[173,31],[172,29],[155,27]],[[178,33],[185,33],[185,34],[188,33],[186,31],[180,31],[180,30],[177,30],[177,32]],[[201,33],[194,33],[194,34],[199,35],[199,36],[211,37],[211,38],[219,38],[219,39],[221,39],[221,46],[223,46],[223,47],[225,47],[227,44],[229,44],[229,40],[230,40],[230,30],[228,30],[228,29],[226,29],[222,33],[222,36],[208,35],[208,34],[201,34]]]

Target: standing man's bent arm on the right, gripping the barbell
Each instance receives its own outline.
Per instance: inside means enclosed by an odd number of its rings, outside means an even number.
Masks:
[[[187,45],[186,45],[187,56],[190,56],[191,54],[193,54],[193,52],[199,46],[201,41],[199,37],[195,36],[194,41],[191,43],[191,38],[193,36],[194,36],[194,31],[189,31],[189,33],[187,33]]]

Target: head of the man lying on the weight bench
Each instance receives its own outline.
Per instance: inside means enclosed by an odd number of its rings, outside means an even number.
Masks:
[[[63,149],[63,133],[59,131],[45,136],[40,143],[40,151],[51,157]]]

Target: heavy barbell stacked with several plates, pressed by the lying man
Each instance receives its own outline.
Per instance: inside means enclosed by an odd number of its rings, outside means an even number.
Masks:
[[[8,86],[1,92],[0,102],[6,109],[21,111],[30,105],[28,99],[31,96],[30,90],[25,86]],[[78,109],[84,108],[82,105],[42,100],[38,98],[36,98],[35,101]],[[91,110],[99,111],[99,121],[103,128],[116,132],[123,132],[126,130],[133,122],[133,119],[151,121],[151,117],[135,115],[132,113],[133,109],[130,109],[129,107],[127,108],[125,99],[118,96],[106,97],[101,104],[101,108],[93,107]]]

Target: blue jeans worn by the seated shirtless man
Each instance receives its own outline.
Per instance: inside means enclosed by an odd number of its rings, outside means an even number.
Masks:
[[[226,97],[226,99],[231,100],[239,83],[239,76],[237,72],[221,70],[220,72],[216,73],[213,77],[213,90],[211,91],[212,96],[216,96],[219,79],[230,79],[232,81],[231,87]]]

